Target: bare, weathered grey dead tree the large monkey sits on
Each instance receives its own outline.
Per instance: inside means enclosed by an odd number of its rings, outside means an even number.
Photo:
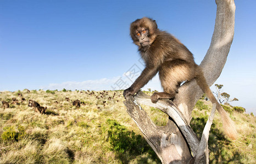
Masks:
[[[216,0],[217,11],[212,42],[201,62],[204,76],[209,86],[218,79],[226,63],[233,40],[235,25],[235,3],[233,0]],[[208,163],[208,135],[211,124],[205,126],[201,142],[192,131],[189,122],[191,113],[198,99],[203,95],[196,81],[185,83],[173,102],[159,100],[151,103],[151,99],[138,92],[129,96],[124,102],[127,113],[136,122],[148,144],[151,145],[162,163]],[[147,104],[162,110],[169,115],[168,124],[156,126],[147,113],[140,107]],[[215,112],[215,108],[213,108]],[[213,115],[210,120],[213,120]]]

